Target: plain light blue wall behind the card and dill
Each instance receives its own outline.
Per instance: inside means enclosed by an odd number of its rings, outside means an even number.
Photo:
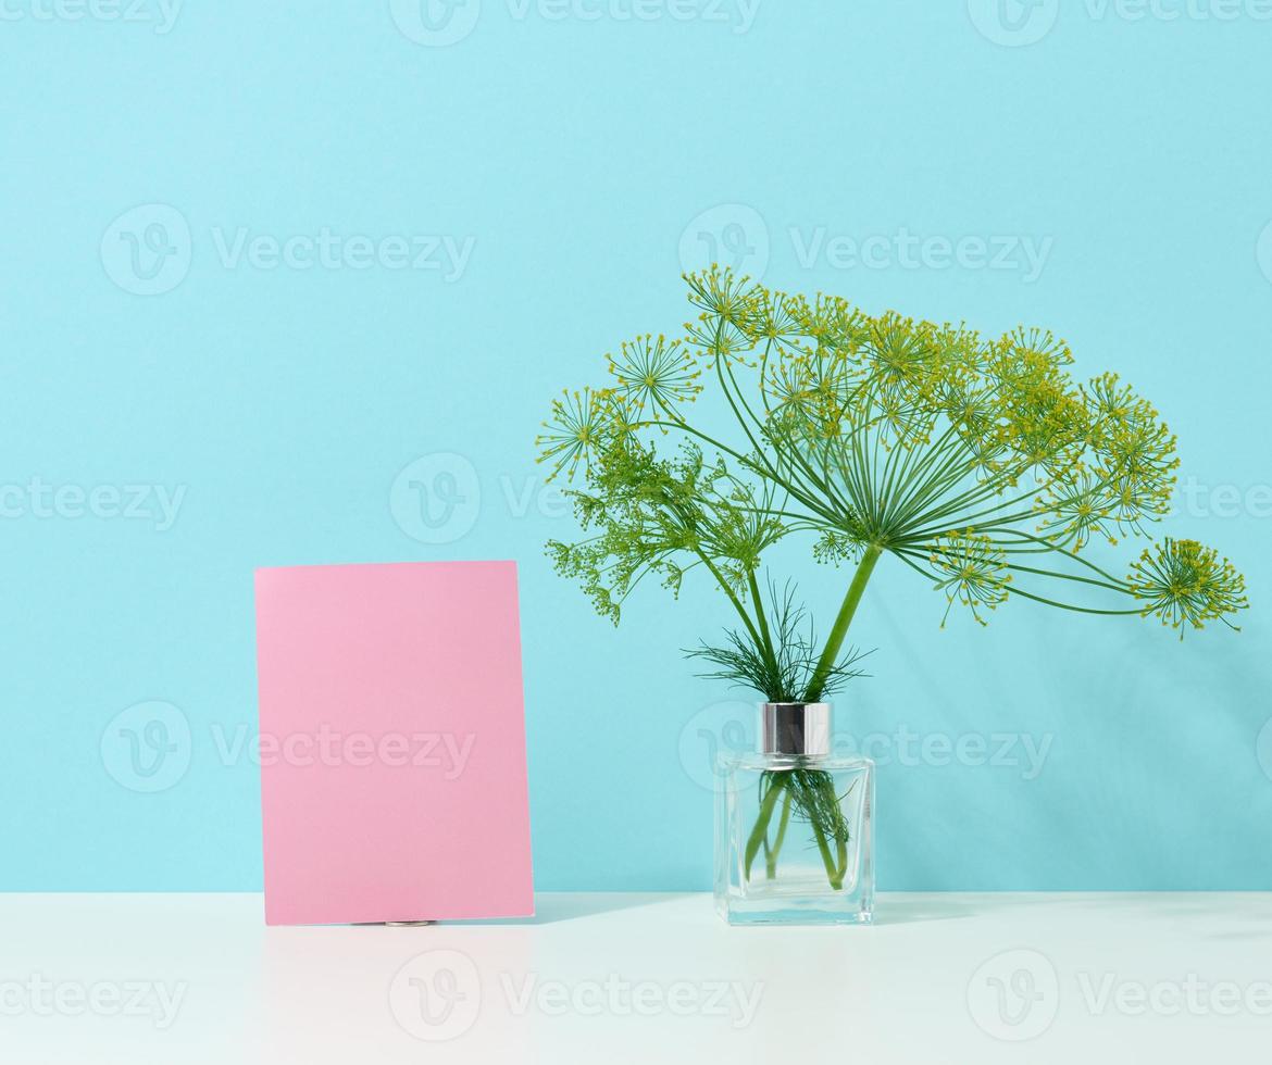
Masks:
[[[1267,888],[1263,5],[1007,0],[1002,22],[978,0],[761,0],[748,24],[738,0],[622,18],[633,3],[557,19],[485,0],[430,47],[396,25],[422,24],[410,0],[187,3],[170,28],[153,0],[141,22],[6,0],[0,887],[258,888],[257,769],[218,746],[254,722],[253,567],[430,558],[522,567],[538,885],[706,887],[700,731],[738,693],[677,648],[724,615],[698,586],[640,599],[619,632],[595,618],[541,555],[570,520],[530,440],[617,341],[679,325],[682,252],[707,233],[781,287],[1056,328],[1079,372],[1118,369],[1158,402],[1189,485],[1170,529],[1250,581],[1243,634],[1180,646],[1023,602],[940,632],[940,597],[881,566],[856,632],[874,676],[840,708],[878,733],[881,886]],[[144,205],[178,221],[112,229]],[[473,243],[448,271],[389,268],[392,244],[365,269],[218,247],[323,227]],[[135,294],[127,233],[142,272],[167,238],[153,285],[174,287]],[[946,266],[939,245],[903,258],[907,233],[1018,250]],[[824,250],[871,236],[869,267]],[[421,459],[412,477],[467,499],[436,532],[393,489]],[[183,492],[174,524],[113,516],[123,485],[150,485],[148,510]],[[818,604],[846,580],[798,574]],[[149,702],[190,727],[151,793],[100,746]]]

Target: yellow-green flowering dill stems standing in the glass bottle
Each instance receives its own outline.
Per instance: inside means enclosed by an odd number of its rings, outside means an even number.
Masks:
[[[553,400],[537,440],[550,479],[581,482],[569,494],[583,536],[547,550],[603,616],[617,624],[646,577],[675,594],[697,571],[736,627],[688,653],[770,703],[815,703],[857,675],[848,628],[884,557],[943,595],[943,625],[1021,599],[1156,618],[1180,638],[1235,628],[1245,582],[1212,548],[1165,538],[1122,567],[1102,558],[1168,512],[1175,438],[1116,374],[1075,380],[1052,333],[875,316],[716,267],[684,280],[684,336],[623,343],[609,381]],[[726,431],[693,417],[709,386]],[[764,574],[761,590],[766,552],[791,535],[852,568],[820,641],[790,585]],[[843,843],[826,782],[778,775],[748,869],[761,844],[776,860],[767,818],[786,794]],[[831,860],[827,873],[833,886]]]

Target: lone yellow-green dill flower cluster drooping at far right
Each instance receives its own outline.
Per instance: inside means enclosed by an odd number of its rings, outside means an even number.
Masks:
[[[1213,548],[1196,540],[1166,538],[1155,550],[1146,548],[1126,580],[1135,597],[1144,601],[1140,613],[1179,629],[1180,639],[1184,638],[1184,623],[1201,629],[1217,618],[1236,629],[1225,615],[1249,606],[1245,578],[1226,558],[1220,560]]]

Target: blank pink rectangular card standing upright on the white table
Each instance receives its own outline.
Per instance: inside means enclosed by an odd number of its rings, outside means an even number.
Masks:
[[[267,924],[534,912],[516,564],[256,572]]]

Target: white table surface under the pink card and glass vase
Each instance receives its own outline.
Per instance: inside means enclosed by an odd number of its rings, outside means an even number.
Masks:
[[[0,1061],[1263,1062],[1272,895],[884,895],[873,928],[706,895],[265,928],[258,895],[0,895]]]

